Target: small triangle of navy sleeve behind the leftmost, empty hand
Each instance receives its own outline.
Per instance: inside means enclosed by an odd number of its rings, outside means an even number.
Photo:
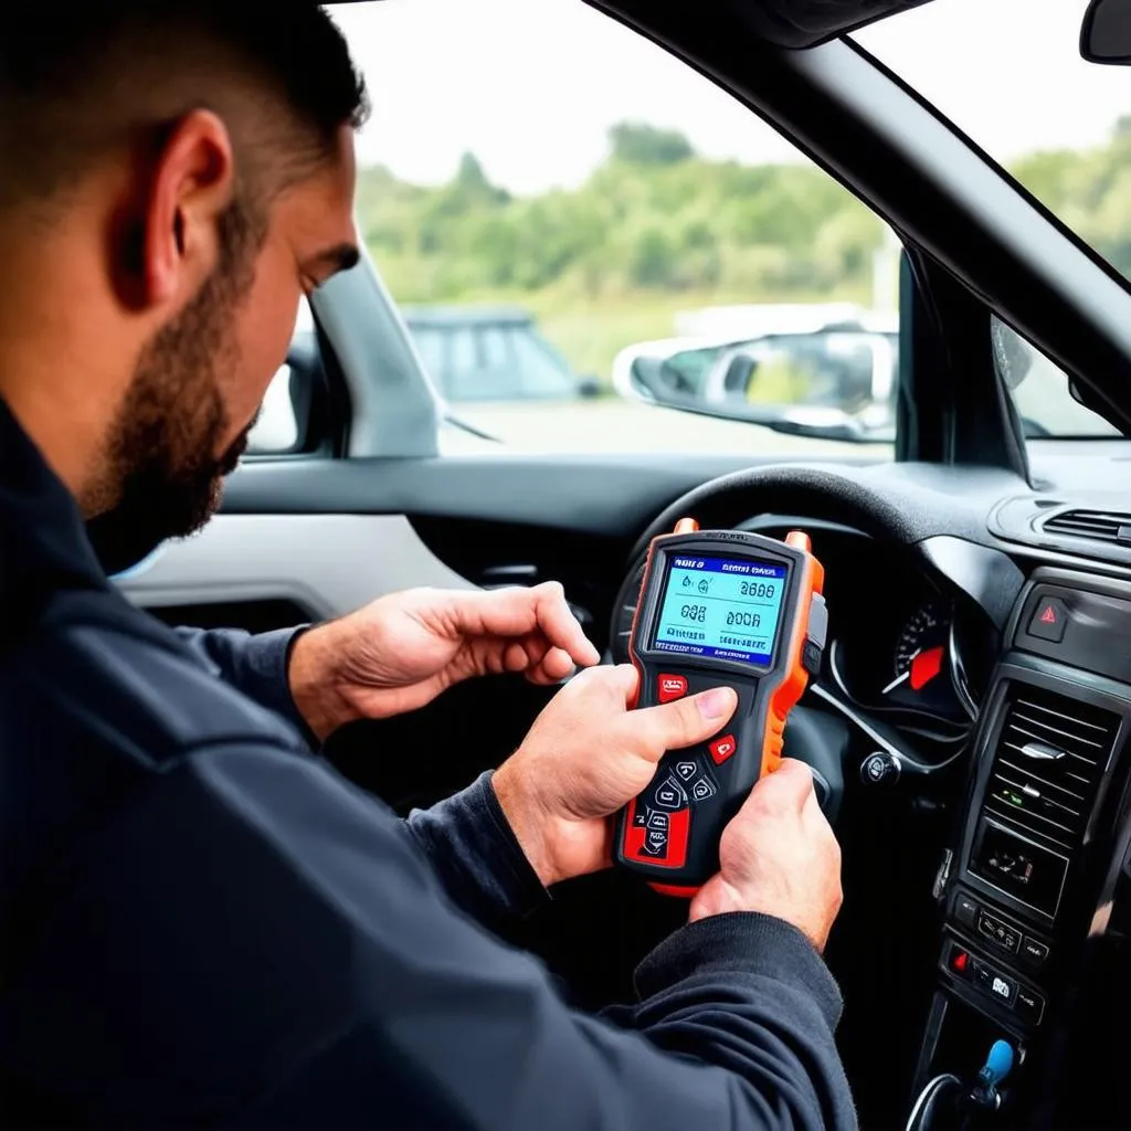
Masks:
[[[245,632],[243,629],[174,629],[188,649],[225,683],[252,701],[282,715],[297,727],[310,748],[318,740],[299,714],[287,682],[287,662],[295,640],[309,628],[303,624],[273,632]]]

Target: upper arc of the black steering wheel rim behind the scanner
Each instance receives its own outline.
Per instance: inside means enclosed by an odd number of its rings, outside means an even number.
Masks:
[[[770,491],[775,493],[772,508],[750,499]],[[670,533],[681,518],[694,518],[705,529],[729,529],[752,513],[769,510],[841,523],[874,538],[905,545],[920,533],[913,516],[841,468],[775,464],[720,475],[680,495],[637,539],[629,566],[634,566],[654,537]]]

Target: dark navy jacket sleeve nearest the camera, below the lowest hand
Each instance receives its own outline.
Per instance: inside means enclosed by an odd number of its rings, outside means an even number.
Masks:
[[[692,924],[616,1024],[579,1015],[452,907],[403,822],[266,743],[152,775],[53,890],[0,1051],[86,1123],[855,1126],[838,993],[792,927]]]

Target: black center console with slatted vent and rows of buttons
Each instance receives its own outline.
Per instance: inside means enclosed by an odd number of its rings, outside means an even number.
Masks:
[[[936,988],[914,1090],[975,1073],[1003,1038],[1018,1067],[994,1126],[1131,1125],[1103,1122],[1107,1104],[1064,1106],[1131,835],[1131,584],[1039,570],[1005,639],[939,877]],[[1112,1022],[1105,1047],[1126,1052],[1131,1017]]]

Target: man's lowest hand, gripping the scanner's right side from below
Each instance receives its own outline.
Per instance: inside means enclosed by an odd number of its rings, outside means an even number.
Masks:
[[[691,901],[691,921],[762,912],[824,949],[840,909],[840,846],[817,803],[813,775],[787,758],[758,782],[723,832],[718,875]]]

